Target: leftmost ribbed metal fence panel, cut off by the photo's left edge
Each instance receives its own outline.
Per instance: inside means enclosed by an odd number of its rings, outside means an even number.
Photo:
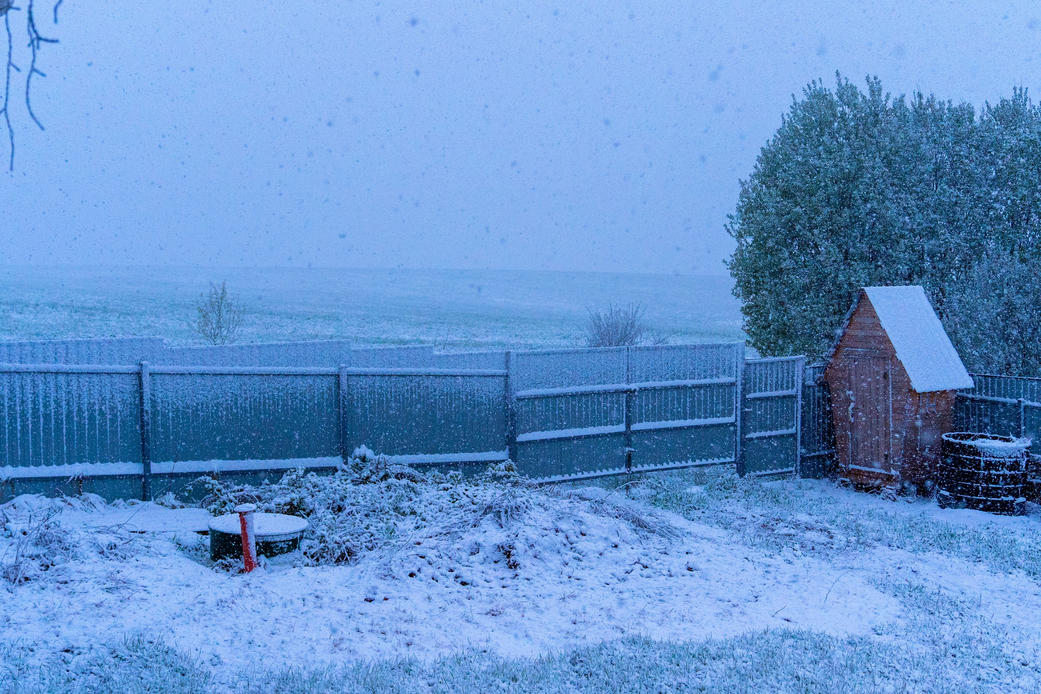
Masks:
[[[0,372],[0,468],[90,465],[92,474],[139,472],[141,395],[137,375],[126,370]],[[97,467],[103,465],[112,467]],[[0,478],[29,473],[0,470]]]

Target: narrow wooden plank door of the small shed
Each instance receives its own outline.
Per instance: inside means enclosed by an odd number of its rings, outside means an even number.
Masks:
[[[889,359],[856,356],[849,360],[849,461],[890,471]]]

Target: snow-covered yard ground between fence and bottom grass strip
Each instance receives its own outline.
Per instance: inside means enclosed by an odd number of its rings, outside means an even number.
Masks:
[[[251,668],[474,649],[523,658],[634,636],[788,628],[909,652],[967,648],[984,691],[1041,682],[1039,515],[892,503],[829,482],[760,485],[725,470],[609,491],[620,482],[457,481],[405,502],[393,492],[407,509],[393,522],[364,520],[373,548],[357,561],[308,566],[296,555],[251,574],[208,565],[207,540],[193,532],[200,509],[19,497],[4,507],[0,539],[8,579],[30,519],[54,514],[49,561],[23,563],[28,580],[0,588],[0,643],[19,643],[24,665],[90,659],[142,634],[227,683]]]

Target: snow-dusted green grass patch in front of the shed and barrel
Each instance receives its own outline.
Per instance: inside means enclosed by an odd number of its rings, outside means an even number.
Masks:
[[[601,484],[610,489],[623,483]],[[973,517],[982,522],[948,522],[929,512],[935,507],[930,499],[887,502],[859,492],[826,490],[824,486],[832,486],[828,481],[762,484],[737,477],[732,467],[648,474],[627,484],[630,493],[651,505],[722,528],[753,547],[808,552],[882,545],[984,562],[1006,573],[1021,570],[1032,577],[1041,575],[1041,530],[1036,525],[1013,530],[998,524],[998,517],[980,513]]]

